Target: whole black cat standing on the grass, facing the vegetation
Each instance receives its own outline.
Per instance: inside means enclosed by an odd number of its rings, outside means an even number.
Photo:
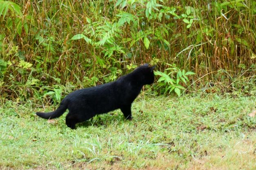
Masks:
[[[60,102],[56,111],[37,112],[36,114],[41,118],[54,119],[69,109],[66,124],[71,129],[75,129],[76,123],[89,120],[96,114],[107,113],[119,108],[125,118],[131,120],[131,103],[138,96],[143,85],[154,82],[153,69],[155,67],[156,65],[149,67],[148,64],[144,64],[116,81],[76,90]]]

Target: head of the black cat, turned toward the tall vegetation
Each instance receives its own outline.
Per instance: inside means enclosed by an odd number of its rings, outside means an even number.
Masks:
[[[143,85],[150,85],[154,83],[155,75],[154,75],[154,68],[156,65],[153,67],[149,67],[148,64],[141,65],[138,67],[136,70],[139,72],[139,79],[142,81]]]

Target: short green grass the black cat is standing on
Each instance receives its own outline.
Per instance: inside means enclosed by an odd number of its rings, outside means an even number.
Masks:
[[[139,96],[122,113],[65,125],[35,111],[53,106],[5,101],[0,108],[1,169],[255,169],[255,96]]]

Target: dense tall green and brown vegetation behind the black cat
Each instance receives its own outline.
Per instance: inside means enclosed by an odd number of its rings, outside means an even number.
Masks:
[[[0,0],[0,95],[59,101],[141,63],[176,69],[158,72],[155,92],[232,91],[255,81],[255,14],[251,0]]]

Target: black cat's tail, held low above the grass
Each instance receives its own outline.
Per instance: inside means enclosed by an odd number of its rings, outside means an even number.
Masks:
[[[60,106],[55,111],[48,113],[36,112],[36,115],[44,119],[54,119],[60,117],[67,110],[67,101],[63,99],[60,102]]]

